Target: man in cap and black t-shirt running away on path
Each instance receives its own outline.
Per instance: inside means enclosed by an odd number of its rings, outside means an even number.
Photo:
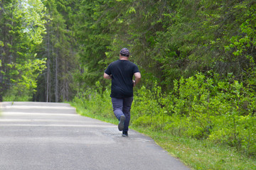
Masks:
[[[132,80],[132,77],[135,80]],[[119,60],[112,62],[104,72],[105,79],[112,79],[111,94],[114,115],[119,120],[118,129],[122,136],[128,136],[130,110],[133,101],[133,87],[136,86],[141,74],[136,64],[129,61],[129,50],[122,48]]]

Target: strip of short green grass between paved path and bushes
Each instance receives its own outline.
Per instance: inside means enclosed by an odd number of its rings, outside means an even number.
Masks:
[[[75,106],[74,103],[71,103]],[[116,124],[114,118],[105,118],[92,113],[81,106],[75,106],[80,115],[95,118],[108,123]],[[223,145],[215,145],[207,140],[194,140],[186,137],[176,137],[164,132],[155,132],[149,128],[141,128],[134,125],[130,129],[137,130],[151,137],[157,145],[166,149],[172,156],[177,157],[191,169],[196,170],[255,170],[256,159],[246,157],[235,149]]]

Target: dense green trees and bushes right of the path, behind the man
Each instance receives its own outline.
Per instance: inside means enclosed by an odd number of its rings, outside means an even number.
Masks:
[[[255,155],[254,1],[82,3],[75,31],[82,43],[82,89],[96,80],[105,89],[110,82],[102,80],[103,70],[121,47],[129,47],[143,76],[134,125]],[[109,91],[94,88],[95,96],[89,90],[78,98],[90,111],[112,117]]]

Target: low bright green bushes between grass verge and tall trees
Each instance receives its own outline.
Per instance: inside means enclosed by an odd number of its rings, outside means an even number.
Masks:
[[[254,82],[254,81],[253,81]],[[87,89],[75,97],[93,114],[114,118],[110,90]],[[134,92],[131,125],[161,130],[172,135],[193,137],[230,145],[248,155],[256,155],[255,91],[232,74],[195,74],[174,81],[174,89],[164,94],[157,83]]]

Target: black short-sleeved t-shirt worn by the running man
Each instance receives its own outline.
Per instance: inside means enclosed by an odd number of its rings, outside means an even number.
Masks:
[[[112,75],[111,94],[112,98],[127,98],[133,96],[132,77],[139,72],[139,68],[128,60],[112,62],[105,73]]]

